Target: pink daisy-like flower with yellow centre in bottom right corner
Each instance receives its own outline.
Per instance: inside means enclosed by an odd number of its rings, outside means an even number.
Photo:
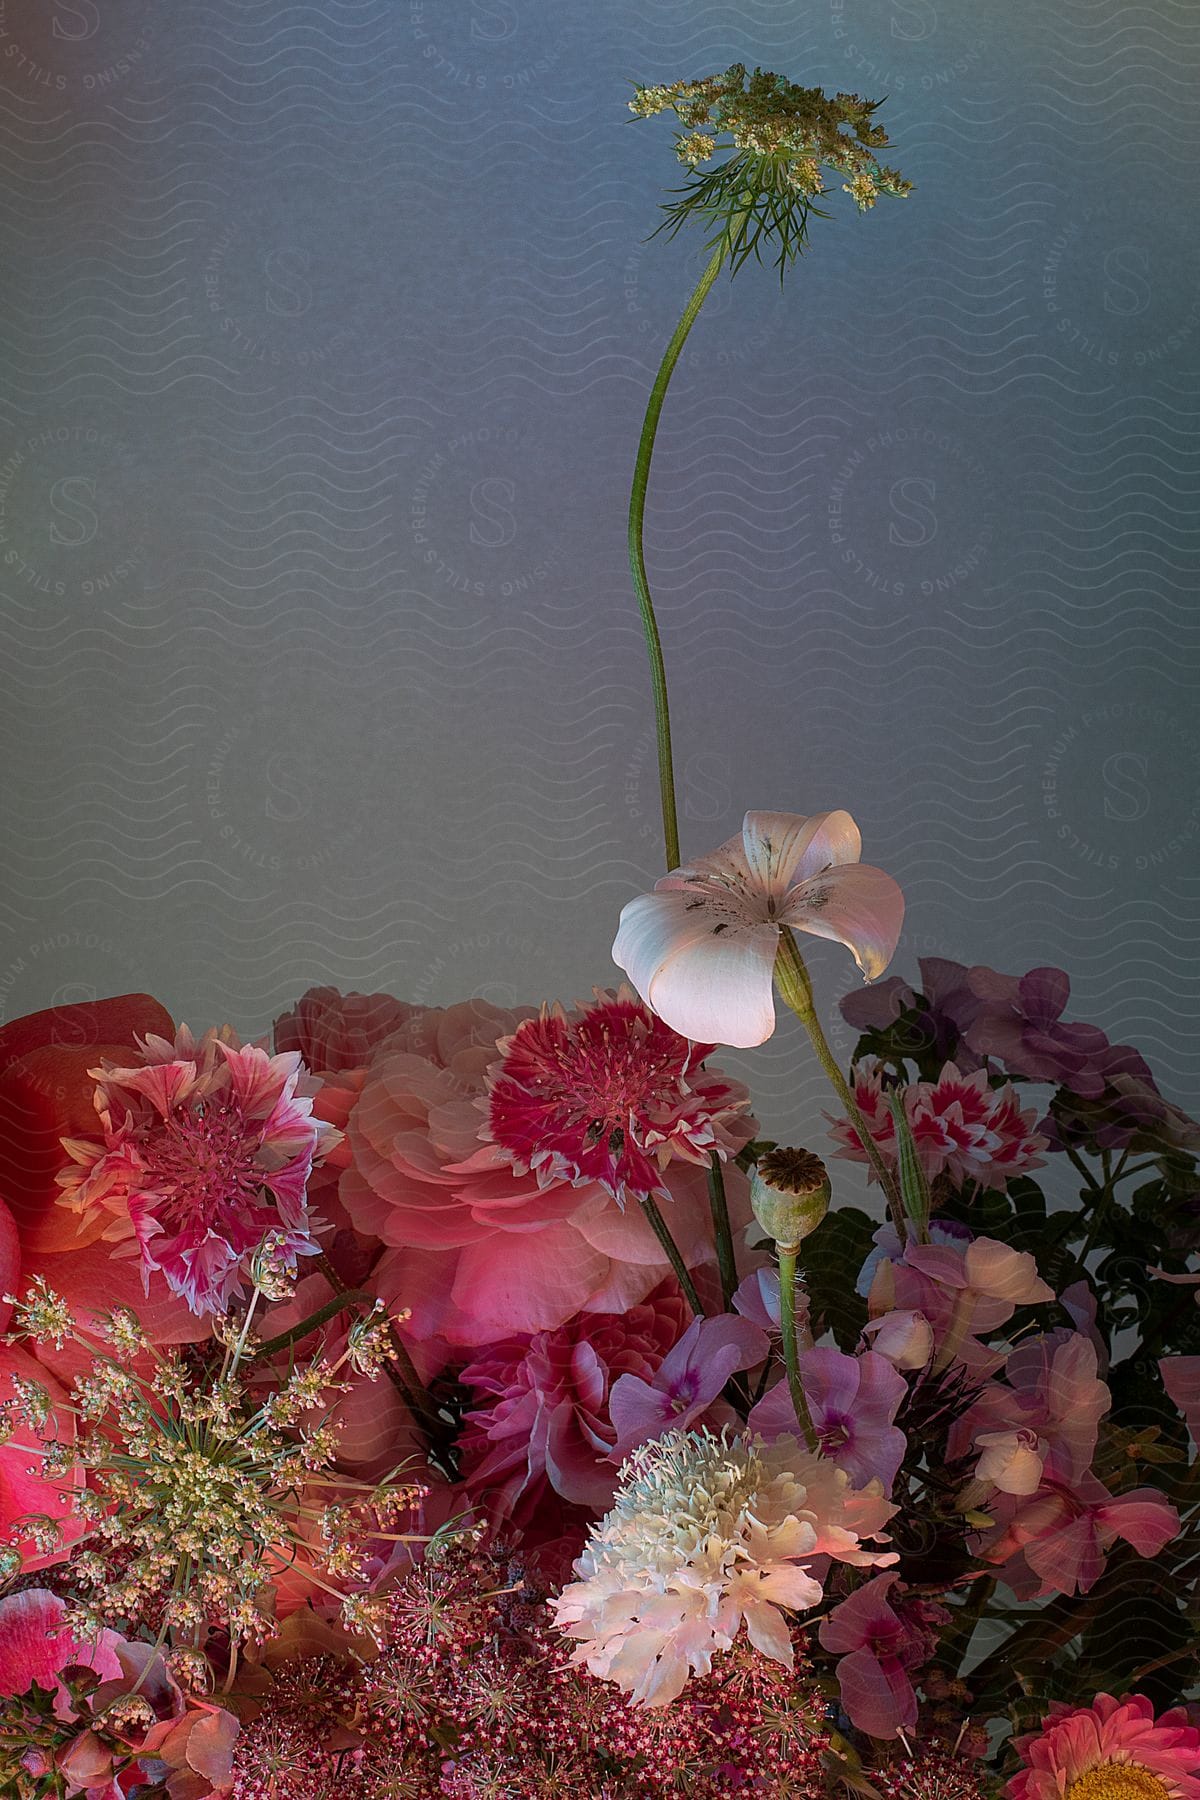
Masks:
[[[1200,1730],[1182,1706],[1155,1719],[1142,1694],[1056,1705],[1015,1748],[1009,1800],[1200,1800]]]

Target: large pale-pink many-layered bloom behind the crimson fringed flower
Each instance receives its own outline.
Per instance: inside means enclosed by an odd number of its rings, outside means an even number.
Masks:
[[[410,1332],[488,1345],[556,1330],[578,1312],[622,1312],[669,1273],[640,1208],[599,1183],[543,1186],[480,1141],[498,1042],[536,1017],[486,1001],[428,1008],[376,1053],[347,1120],[340,1197],[353,1226],[396,1251],[390,1280]],[[667,1172],[664,1217],[689,1269],[712,1264],[705,1170]],[[748,1184],[727,1170],[734,1231]]]

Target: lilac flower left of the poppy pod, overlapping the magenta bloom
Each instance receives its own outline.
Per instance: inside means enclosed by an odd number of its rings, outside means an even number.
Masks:
[[[712,1406],[730,1375],[754,1368],[766,1355],[766,1334],[750,1319],[729,1312],[693,1319],[655,1375],[621,1375],[608,1395],[608,1417],[617,1431],[613,1458],[621,1460],[662,1431],[685,1431]]]

